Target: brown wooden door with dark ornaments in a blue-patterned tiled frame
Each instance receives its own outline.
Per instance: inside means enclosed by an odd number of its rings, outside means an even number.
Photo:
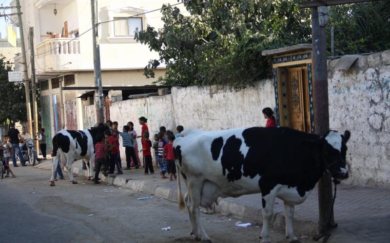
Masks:
[[[303,68],[288,69],[288,100],[290,127],[295,130],[310,132],[306,125],[306,109],[304,84],[302,80]],[[310,120],[309,120],[310,123]]]

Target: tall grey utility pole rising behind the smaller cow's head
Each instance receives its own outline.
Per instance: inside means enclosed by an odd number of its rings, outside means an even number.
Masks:
[[[97,123],[104,122],[104,97],[103,87],[101,84],[101,67],[100,67],[100,44],[98,37],[98,25],[95,13],[95,0],[91,0],[91,16],[92,16],[92,39],[94,46],[94,77],[95,86],[98,87],[98,92],[95,91],[95,107]]]

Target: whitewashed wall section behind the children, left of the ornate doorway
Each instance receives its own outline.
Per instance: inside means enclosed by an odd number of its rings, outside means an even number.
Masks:
[[[272,80],[263,80],[239,91],[216,86],[174,87],[169,95],[113,103],[110,118],[119,123],[119,128],[133,121],[138,134],[141,132],[138,118],[148,118],[153,140],[160,126],[176,133],[177,125],[202,130],[265,125],[261,109],[266,106],[274,109],[274,101]]]

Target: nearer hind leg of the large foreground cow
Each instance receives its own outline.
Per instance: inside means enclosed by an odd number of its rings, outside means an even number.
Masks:
[[[192,227],[195,234],[195,241],[206,241],[211,242],[210,238],[207,236],[204,228],[200,224],[199,219],[199,206],[200,206],[200,197],[202,191],[203,179],[191,178],[187,180],[188,193],[191,200],[191,205],[189,209],[190,219],[194,218],[194,226]],[[200,235],[200,236],[199,236]]]

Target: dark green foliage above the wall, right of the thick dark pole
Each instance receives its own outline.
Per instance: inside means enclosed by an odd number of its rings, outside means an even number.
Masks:
[[[329,55],[331,26],[336,56],[390,49],[390,0],[329,7]]]

